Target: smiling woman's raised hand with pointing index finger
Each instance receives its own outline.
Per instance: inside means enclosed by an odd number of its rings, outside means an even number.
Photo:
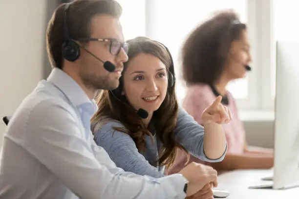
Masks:
[[[231,111],[221,104],[222,97],[218,96],[216,100],[201,115],[203,123],[215,122],[218,124],[228,123],[232,119]]]

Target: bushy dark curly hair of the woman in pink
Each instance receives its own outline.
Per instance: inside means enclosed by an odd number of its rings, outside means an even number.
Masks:
[[[234,40],[246,25],[233,10],[222,11],[198,26],[182,48],[183,78],[187,84],[214,85],[223,73]]]

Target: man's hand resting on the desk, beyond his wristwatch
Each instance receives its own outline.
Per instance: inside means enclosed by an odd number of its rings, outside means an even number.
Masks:
[[[182,174],[188,181],[187,196],[192,196],[203,189],[206,184],[218,185],[217,171],[211,166],[192,162],[183,168],[179,174]]]

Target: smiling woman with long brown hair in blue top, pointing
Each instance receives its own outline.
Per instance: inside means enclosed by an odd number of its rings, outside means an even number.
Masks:
[[[204,111],[204,129],[178,106],[168,49],[144,37],[127,42],[119,88],[97,98],[99,109],[91,119],[96,143],[118,167],[155,178],[174,161],[176,147],[204,161],[221,161],[226,152],[221,124],[230,121],[221,97]],[[145,119],[136,113],[140,108],[148,113]]]

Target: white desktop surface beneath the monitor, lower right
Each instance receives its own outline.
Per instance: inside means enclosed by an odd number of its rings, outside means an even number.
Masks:
[[[272,170],[236,170],[219,175],[216,189],[230,192],[228,199],[299,199],[299,187],[286,190],[248,189],[249,186],[272,184],[261,178],[272,176]]]

